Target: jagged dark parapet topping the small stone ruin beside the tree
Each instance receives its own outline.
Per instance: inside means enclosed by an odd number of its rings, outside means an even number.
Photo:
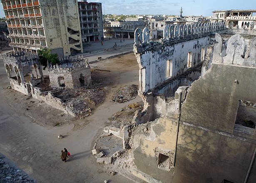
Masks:
[[[69,72],[78,67],[89,67],[88,58],[81,56],[60,57],[60,64],[52,65],[48,62],[48,70],[50,72]]]

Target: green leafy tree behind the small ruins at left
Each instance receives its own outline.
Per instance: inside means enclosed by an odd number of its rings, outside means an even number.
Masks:
[[[40,64],[42,64],[42,66],[44,66],[44,69],[47,67],[47,61],[52,65],[59,64],[60,62],[58,59],[58,54],[52,54],[49,48],[40,48],[37,50],[37,54],[39,57],[38,61]]]

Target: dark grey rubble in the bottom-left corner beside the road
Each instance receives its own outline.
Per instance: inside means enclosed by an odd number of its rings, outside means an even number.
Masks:
[[[0,183],[35,183],[25,172],[18,170],[4,161],[0,155]]]

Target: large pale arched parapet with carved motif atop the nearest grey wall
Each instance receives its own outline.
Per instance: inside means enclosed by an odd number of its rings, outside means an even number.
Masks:
[[[212,56],[213,63],[235,64],[256,67],[256,37],[246,45],[244,37],[239,34],[233,35],[223,44],[223,39],[218,33],[215,34],[216,44]],[[250,48],[248,56],[245,57],[246,48]]]

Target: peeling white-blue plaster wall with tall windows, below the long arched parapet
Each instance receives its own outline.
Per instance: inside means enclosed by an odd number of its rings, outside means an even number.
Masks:
[[[201,62],[201,48],[206,48],[209,45],[209,40],[209,37],[202,37],[166,47],[159,46],[157,50],[141,53],[138,62],[145,73],[141,77],[143,81],[142,91],[147,92],[170,78],[166,77],[167,60],[171,61],[171,77],[182,74],[188,69],[188,52],[191,52],[191,67],[199,64]]]

